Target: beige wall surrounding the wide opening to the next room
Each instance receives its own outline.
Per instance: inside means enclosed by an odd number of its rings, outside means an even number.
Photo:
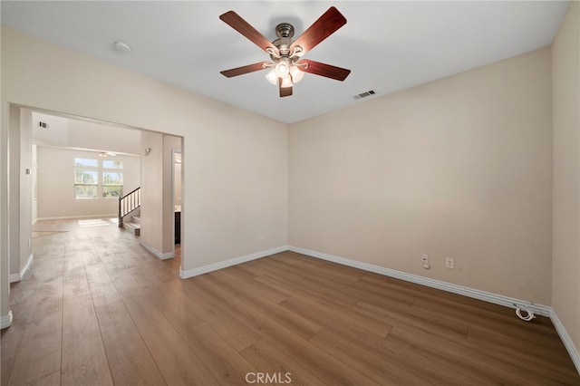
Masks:
[[[183,137],[183,270],[287,244],[285,124],[4,26],[2,102]]]

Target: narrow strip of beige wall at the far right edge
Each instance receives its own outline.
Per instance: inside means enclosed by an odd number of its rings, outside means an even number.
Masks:
[[[552,307],[580,358],[580,4],[552,47],[554,190]],[[578,366],[579,363],[576,363]],[[578,368],[580,371],[580,367]]]

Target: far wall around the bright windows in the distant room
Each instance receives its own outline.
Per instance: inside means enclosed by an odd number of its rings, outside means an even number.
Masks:
[[[102,158],[94,151],[37,147],[37,202],[40,219],[59,217],[117,217],[117,198],[74,198],[74,159]],[[123,163],[123,192],[140,186],[140,158],[137,156],[109,157]],[[102,170],[102,169],[98,169]]]

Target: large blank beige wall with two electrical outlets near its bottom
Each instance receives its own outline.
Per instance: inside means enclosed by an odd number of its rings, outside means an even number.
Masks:
[[[293,125],[289,245],[550,304],[550,106],[544,49]]]

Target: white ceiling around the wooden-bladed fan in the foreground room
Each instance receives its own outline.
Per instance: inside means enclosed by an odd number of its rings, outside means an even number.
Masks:
[[[346,17],[304,58],[352,70],[344,82],[313,74],[278,97],[266,71],[219,73],[269,60],[218,16],[234,10],[268,39],[289,22],[295,37],[336,6]],[[2,1],[2,24],[191,92],[292,123],[552,43],[568,2]],[[118,53],[115,41],[131,45]]]

